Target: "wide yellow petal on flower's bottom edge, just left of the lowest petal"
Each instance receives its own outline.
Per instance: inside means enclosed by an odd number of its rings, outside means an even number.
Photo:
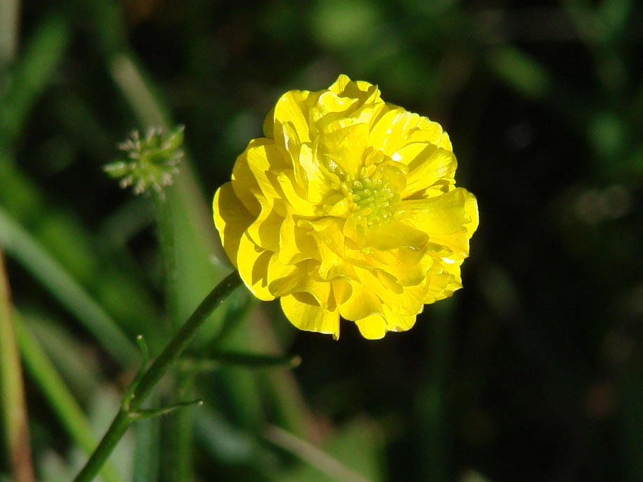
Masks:
[[[281,307],[286,318],[298,329],[307,332],[332,334],[340,337],[340,313],[322,308],[314,299],[302,294],[281,298]]]

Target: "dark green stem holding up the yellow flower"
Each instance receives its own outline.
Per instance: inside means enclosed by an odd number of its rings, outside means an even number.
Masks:
[[[87,460],[86,465],[76,476],[76,482],[91,481],[94,479],[100,471],[100,467],[103,467],[103,464],[107,458],[109,458],[114,447],[119,443],[121,437],[123,437],[123,434],[126,433],[130,425],[137,419],[137,410],[139,410],[163,375],[165,375],[174,362],[179,359],[183,350],[187,348],[188,343],[194,338],[197,329],[199,329],[211,313],[225,301],[228,295],[240,285],[241,278],[239,277],[239,272],[235,271],[221,281],[218,286],[205,297],[201,304],[199,304],[194,313],[192,313],[172,341],[170,341],[169,345],[167,345],[165,350],[162,351],[147,369],[145,375],[143,375],[134,390],[134,393],[131,395],[130,400],[125,401],[125,403],[121,405],[121,410],[116,414],[103,440],[100,441],[94,453],[89,460]]]

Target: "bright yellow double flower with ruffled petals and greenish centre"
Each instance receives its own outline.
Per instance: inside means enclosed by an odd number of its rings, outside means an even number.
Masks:
[[[289,91],[214,196],[223,247],[260,300],[280,297],[299,329],[368,339],[411,328],[423,305],[462,288],[478,227],[455,187],[448,134],[340,75]]]

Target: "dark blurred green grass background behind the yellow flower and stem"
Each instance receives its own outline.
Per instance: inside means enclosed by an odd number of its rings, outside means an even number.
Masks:
[[[271,104],[343,72],[451,134],[481,208],[464,290],[375,342],[239,293],[190,356],[241,320],[225,348],[301,366],[176,371],[153,403],[204,405],[137,424],[105,480],[643,480],[642,23],[633,0],[0,0],[0,246],[38,479],[86,460],[135,336],[158,353],[231,269],[210,199]],[[167,202],[102,171],[133,129],[178,124]]]

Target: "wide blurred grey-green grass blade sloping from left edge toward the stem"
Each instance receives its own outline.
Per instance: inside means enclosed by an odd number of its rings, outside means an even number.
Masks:
[[[77,317],[114,360],[123,366],[132,366],[137,362],[133,343],[121,332],[116,322],[1,208],[0,244]]]

